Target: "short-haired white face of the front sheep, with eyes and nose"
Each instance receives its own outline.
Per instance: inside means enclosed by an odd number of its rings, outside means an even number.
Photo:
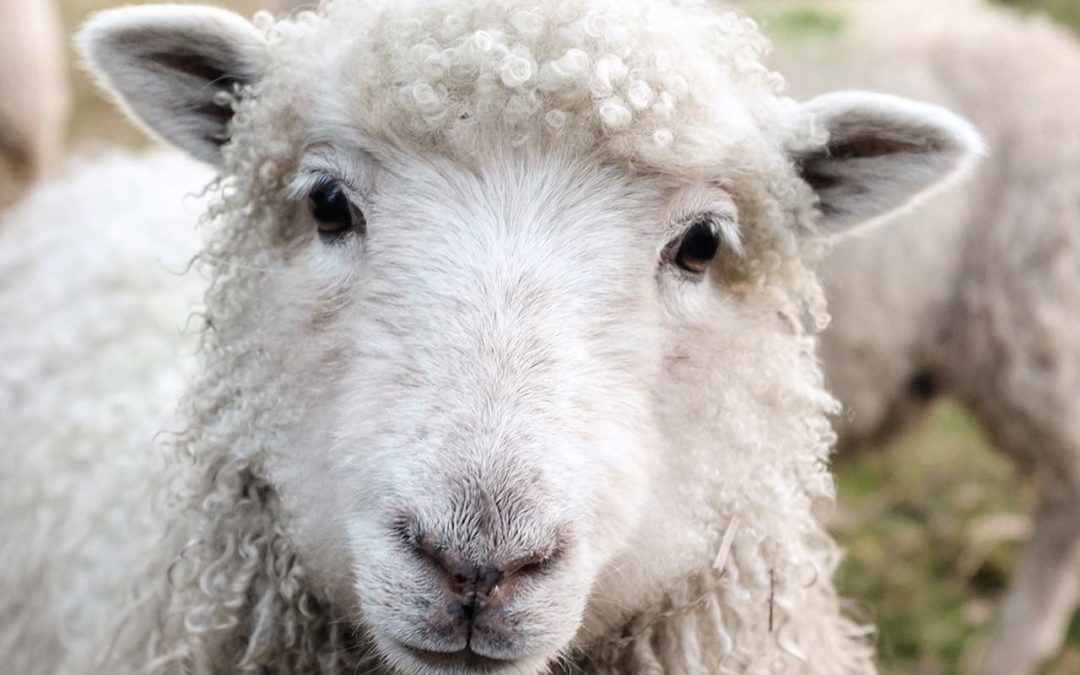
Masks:
[[[297,173],[306,234],[267,313],[302,346],[308,419],[273,483],[312,575],[406,670],[469,647],[539,671],[669,511],[654,397],[725,301],[702,266],[738,246],[734,206],[581,158],[383,150]]]

